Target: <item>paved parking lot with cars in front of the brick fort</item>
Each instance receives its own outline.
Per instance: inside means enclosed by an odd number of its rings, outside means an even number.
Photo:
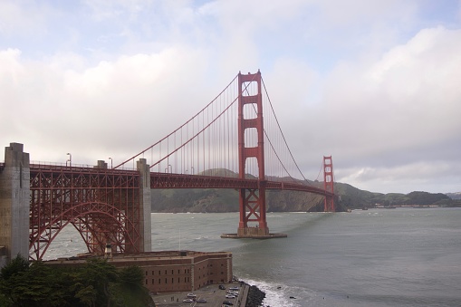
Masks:
[[[183,302],[187,299],[188,293],[161,293],[158,295],[152,295],[152,299],[156,303],[156,306],[183,306],[183,307],[193,307],[193,306],[222,306],[223,302],[228,301],[232,302],[236,307],[245,307],[246,295],[248,294],[248,286],[245,283],[225,283],[226,290],[221,290],[218,288],[218,284],[210,284],[203,288],[198,289],[193,293],[196,295],[196,302]],[[229,291],[231,287],[238,287],[238,296],[234,299],[227,299],[226,292]],[[206,302],[197,302],[199,299],[205,299]]]

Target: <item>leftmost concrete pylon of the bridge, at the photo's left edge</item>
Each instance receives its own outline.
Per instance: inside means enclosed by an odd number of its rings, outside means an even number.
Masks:
[[[6,263],[17,254],[29,258],[30,176],[23,144],[10,143],[0,170],[0,246],[5,246]]]

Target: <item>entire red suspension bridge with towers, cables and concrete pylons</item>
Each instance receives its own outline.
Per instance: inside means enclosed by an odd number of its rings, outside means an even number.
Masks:
[[[267,189],[322,195],[324,210],[335,210],[331,157],[323,157],[323,187],[303,177],[260,72],[238,73],[185,124],[120,165],[108,168],[98,161],[95,167],[82,168],[69,162],[65,167],[31,164],[22,144],[5,149],[0,211],[6,214],[0,216],[0,245],[9,246],[8,254],[42,259],[69,224],[91,253],[103,253],[108,243],[113,252],[150,251],[152,188],[237,189],[240,220],[235,237],[273,235],[265,216]],[[23,237],[26,244],[14,243]]]

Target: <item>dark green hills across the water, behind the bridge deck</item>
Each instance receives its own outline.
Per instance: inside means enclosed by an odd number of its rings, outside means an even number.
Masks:
[[[203,175],[237,175],[226,169],[207,170]],[[250,177],[250,176],[248,176]],[[280,178],[278,178],[280,180]],[[286,178],[285,180],[288,180]],[[290,178],[290,180],[293,180]],[[322,182],[309,182],[314,187],[323,187]],[[349,184],[335,182],[335,193],[339,196],[337,210],[396,205],[438,205],[461,206],[461,193],[427,193],[415,191],[408,194],[373,193],[352,187]],[[457,197],[457,198],[456,198]],[[322,211],[323,197],[312,193],[297,191],[268,190],[266,206],[268,212],[307,212]],[[226,188],[178,188],[152,189],[152,212],[238,212],[238,191]]]

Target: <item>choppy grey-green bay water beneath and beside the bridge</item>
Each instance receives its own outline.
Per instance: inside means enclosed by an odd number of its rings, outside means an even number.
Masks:
[[[221,239],[238,213],[152,214],[153,250],[230,251],[270,306],[461,306],[461,208],[270,213],[272,240]],[[66,228],[45,258],[84,252]],[[290,299],[290,296],[295,299]]]

